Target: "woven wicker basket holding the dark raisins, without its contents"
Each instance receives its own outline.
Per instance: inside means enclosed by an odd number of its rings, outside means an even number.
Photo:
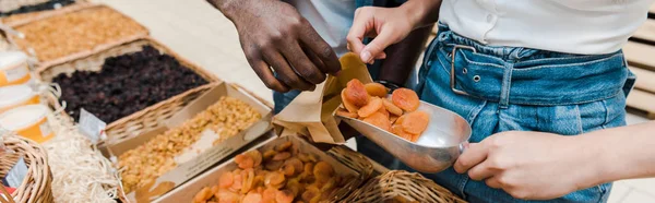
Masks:
[[[141,51],[142,47],[145,45],[153,46],[159,51],[172,56],[182,65],[193,70],[196,74],[205,79],[209,84],[189,89],[145,109],[136,111],[130,116],[108,123],[106,129],[108,136],[118,140],[131,138],[140,134],[141,132],[147,132],[157,128],[160,121],[170,118],[175,112],[187,106],[187,104],[195,99],[198,96],[218,85],[221,80],[214,74],[205,71],[195,63],[192,63],[191,61],[174,52],[170,48],[150,37],[123,43],[116,47],[83,58],[71,59],[69,61],[50,67],[38,68],[36,71],[36,77],[45,82],[51,82],[52,79],[59,74],[72,74],[75,71],[99,71],[106,58]]]

